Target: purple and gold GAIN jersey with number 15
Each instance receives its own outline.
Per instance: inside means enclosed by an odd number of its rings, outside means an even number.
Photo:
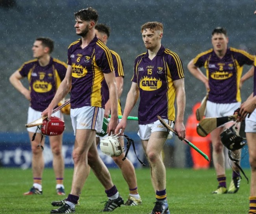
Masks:
[[[148,51],[135,59],[132,82],[139,87],[139,124],[153,123],[158,120],[158,115],[175,120],[173,81],[182,78],[184,71],[180,58],[163,46],[152,60],[148,58]]]

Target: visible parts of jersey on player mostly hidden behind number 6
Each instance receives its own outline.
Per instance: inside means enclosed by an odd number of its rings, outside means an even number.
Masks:
[[[124,65],[122,63],[122,60],[121,60],[119,54],[112,50],[110,50],[110,52],[111,52],[112,58],[113,58],[115,77],[124,77],[124,69],[123,69]],[[105,79],[102,82],[102,91],[103,91],[103,96],[104,96],[105,103],[106,103],[109,99],[109,89],[108,89],[108,84],[106,83]],[[120,99],[118,99],[118,115],[122,115]]]

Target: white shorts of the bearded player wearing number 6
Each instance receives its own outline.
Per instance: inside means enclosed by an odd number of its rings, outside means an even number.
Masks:
[[[77,129],[91,129],[101,132],[104,109],[95,106],[83,106],[82,108],[70,109],[70,117],[74,135]]]

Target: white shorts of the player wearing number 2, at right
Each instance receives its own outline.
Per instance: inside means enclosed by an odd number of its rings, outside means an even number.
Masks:
[[[241,106],[241,102],[215,103],[206,102],[206,117],[225,117],[234,114],[234,111]]]

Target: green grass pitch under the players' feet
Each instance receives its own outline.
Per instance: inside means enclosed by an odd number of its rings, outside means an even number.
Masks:
[[[119,169],[109,170],[113,183],[124,200],[128,197],[128,187]],[[250,170],[245,170],[250,177]],[[72,168],[65,169],[65,191],[68,194],[72,182]],[[154,207],[155,193],[150,181],[148,168],[136,169],[139,194],[143,205],[117,208],[118,214],[148,214]],[[227,170],[227,185],[231,170]],[[49,214],[54,209],[51,201],[64,199],[55,191],[55,176],[51,168],[43,174],[43,195],[23,196],[32,186],[32,170],[19,168],[0,168],[0,213],[7,214]],[[215,171],[192,169],[167,169],[167,199],[172,214],[246,214],[249,210],[250,185],[245,178],[241,180],[236,194],[212,195],[217,187]],[[91,172],[83,188],[78,214],[99,214],[104,207],[102,201],[107,197],[104,188]]]

